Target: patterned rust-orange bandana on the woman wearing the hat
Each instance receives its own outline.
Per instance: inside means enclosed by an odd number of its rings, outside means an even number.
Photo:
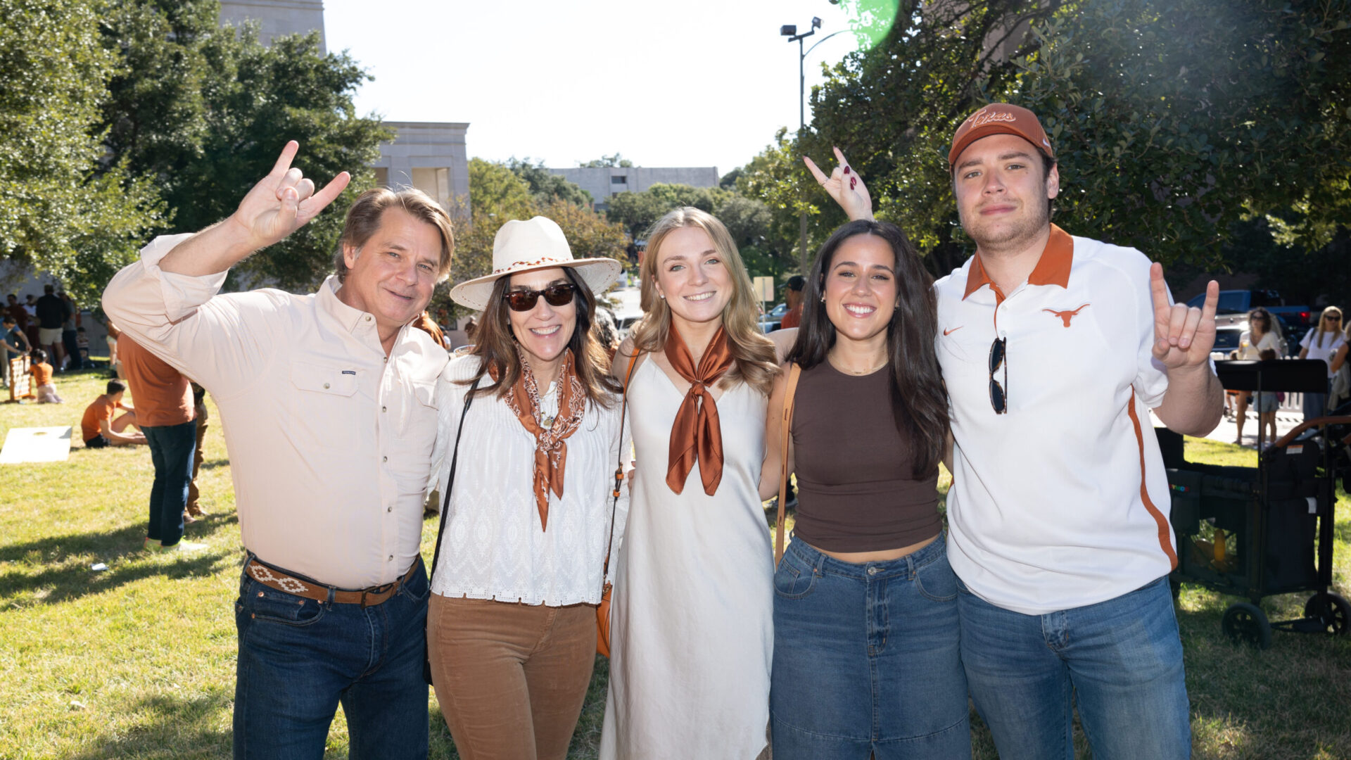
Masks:
[[[539,511],[540,530],[549,530],[549,492],[563,498],[563,473],[567,468],[567,442],[565,438],[577,431],[586,412],[586,394],[573,366],[573,352],[565,352],[563,368],[558,373],[558,417],[553,425],[539,423],[539,387],[530,362],[520,362],[520,377],[507,394],[507,407],[520,421],[521,427],[535,435],[535,508]],[[493,380],[499,380],[496,366],[489,369]]]

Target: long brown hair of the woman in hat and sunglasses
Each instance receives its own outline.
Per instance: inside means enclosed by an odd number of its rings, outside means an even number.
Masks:
[[[577,379],[582,384],[586,399],[594,404],[609,408],[615,403],[615,394],[620,392],[619,381],[609,376],[609,352],[607,352],[592,329],[592,314],[596,314],[596,295],[592,293],[582,280],[573,272],[571,266],[563,266],[563,276],[573,285],[573,304],[577,306],[577,325],[573,327],[573,337],[567,339],[567,349],[573,352],[573,366],[577,369]],[[516,337],[511,331],[511,319],[507,315],[507,288],[511,287],[511,276],[499,277],[493,283],[493,295],[488,298],[484,307],[484,318],[474,331],[474,348],[470,350],[480,360],[478,372],[462,384],[467,385],[482,379],[489,368],[497,369],[499,381],[496,385],[480,388],[480,395],[497,394],[499,399],[507,398],[516,380],[520,379],[520,354],[516,353]]]

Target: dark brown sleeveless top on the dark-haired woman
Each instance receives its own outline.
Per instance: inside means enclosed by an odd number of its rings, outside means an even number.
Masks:
[[[802,371],[793,408],[797,526],[827,552],[880,552],[942,531],[938,475],[911,477],[886,369],[852,376],[831,362]]]

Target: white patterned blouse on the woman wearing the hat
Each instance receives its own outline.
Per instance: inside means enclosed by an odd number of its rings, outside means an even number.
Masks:
[[[469,385],[458,380],[471,379],[478,364],[477,356],[453,358],[438,383],[440,422],[432,462],[442,498],[469,392]],[[492,379],[484,376],[480,387],[490,384]],[[555,387],[540,394],[546,411],[557,410]],[[534,491],[535,435],[496,395],[474,398],[459,442],[432,592],[555,607],[600,602],[611,492],[621,446],[620,399],[616,396],[611,408],[588,403],[581,425],[565,441],[563,495],[549,492],[549,530],[542,530]],[[627,431],[623,449],[628,450]],[[616,548],[627,515],[626,484],[615,515]]]

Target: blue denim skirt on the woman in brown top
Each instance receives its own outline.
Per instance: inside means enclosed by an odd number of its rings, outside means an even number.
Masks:
[[[788,546],[774,572],[775,760],[971,756],[946,546],[867,564]]]

